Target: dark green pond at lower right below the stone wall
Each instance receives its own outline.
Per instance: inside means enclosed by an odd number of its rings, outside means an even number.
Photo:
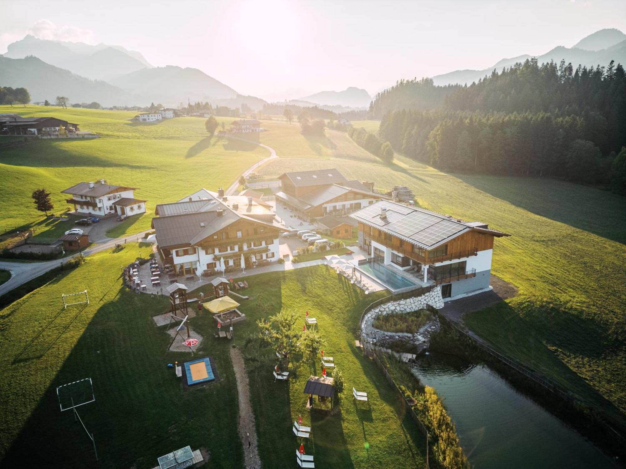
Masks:
[[[577,431],[486,365],[431,352],[418,356],[414,373],[443,398],[476,469],[615,467]]]

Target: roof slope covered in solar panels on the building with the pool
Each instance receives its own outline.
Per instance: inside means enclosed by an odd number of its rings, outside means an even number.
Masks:
[[[381,218],[382,207],[386,207],[385,218]],[[434,248],[473,228],[439,213],[391,201],[377,201],[351,213],[350,217],[424,249]]]

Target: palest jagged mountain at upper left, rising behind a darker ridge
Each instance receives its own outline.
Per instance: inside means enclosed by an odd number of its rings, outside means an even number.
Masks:
[[[28,35],[8,46],[5,57],[35,56],[44,62],[86,78],[108,80],[142,68],[151,68],[143,56],[121,46],[49,41]]]

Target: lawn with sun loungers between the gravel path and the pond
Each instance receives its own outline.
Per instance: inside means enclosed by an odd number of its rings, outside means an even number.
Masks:
[[[303,324],[304,312],[309,310],[309,315],[317,318],[325,341],[324,354],[334,358],[346,383],[339,414],[307,411],[304,386],[310,375],[321,375],[319,357],[303,357],[292,365],[287,382],[275,382],[274,352],[244,346],[264,466],[294,465],[294,452],[300,441],[296,441],[292,426],[302,415],[303,425],[312,427],[304,446],[307,454],[315,456],[316,466],[423,467],[423,437],[414,423],[399,413],[391,386],[376,365],[354,347],[363,309],[384,293],[364,295],[326,266],[252,276],[247,281],[250,288],[245,293],[251,300],[239,308],[247,320],[234,326],[235,343],[245,344],[245,338],[255,329],[254,321],[268,318],[281,308],[301,313]],[[203,288],[205,292],[209,290]],[[215,320],[208,315],[200,320],[202,331],[217,331]],[[327,371],[330,374],[331,370]],[[352,386],[368,393],[369,406],[354,404]]]

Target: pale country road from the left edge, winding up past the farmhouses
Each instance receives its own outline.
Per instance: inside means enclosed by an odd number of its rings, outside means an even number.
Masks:
[[[233,136],[228,136],[228,138],[234,138],[237,140],[250,142],[247,139],[233,137]],[[267,163],[267,161],[278,158],[278,155],[276,154],[276,151],[274,150],[274,148],[271,148],[270,146],[267,146],[262,143],[257,143],[257,142],[250,142],[250,143],[254,143],[258,146],[262,146],[263,148],[267,149],[270,152],[270,156],[260,160],[258,163],[254,163],[252,166],[250,166],[250,168],[246,169],[244,173],[240,174],[240,176],[244,176],[244,177],[247,176],[247,174],[250,174],[255,169],[259,168],[259,166],[262,166],[263,164]],[[237,176],[237,179],[235,179],[235,181],[233,181],[233,183],[230,184],[230,186],[228,186],[228,188],[225,191],[227,195],[234,195],[237,193],[237,187],[239,186],[240,176]],[[149,230],[146,230],[146,231],[149,231]],[[133,238],[135,236],[143,236],[144,233],[146,233],[146,231],[141,231],[141,233],[136,233],[133,235],[121,236],[120,238],[105,238],[103,240],[98,240],[95,242],[95,246],[91,246],[91,248],[88,248],[85,251],[83,251],[83,255],[89,256],[91,254],[99,253],[100,251],[105,251],[107,249],[113,248],[113,246],[115,246],[116,243],[123,244],[124,241],[128,238]],[[11,278],[5,283],[3,283],[3,285],[0,285],[0,296],[4,295],[4,293],[8,293],[9,291],[13,290],[14,288],[17,288],[18,286],[22,285],[23,283],[26,283],[27,281],[33,280],[33,278],[36,278],[39,275],[43,275],[49,270],[52,270],[55,267],[58,267],[59,265],[61,265],[61,263],[64,260],[66,260],[66,258],[57,259],[54,261],[46,261],[46,262],[0,261],[0,269],[8,270],[9,272],[11,272]]]

